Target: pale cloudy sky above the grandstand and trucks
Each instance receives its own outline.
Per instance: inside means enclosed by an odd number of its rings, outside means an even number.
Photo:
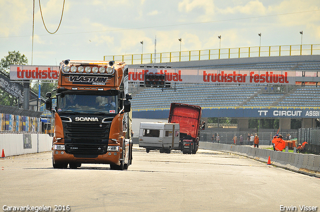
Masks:
[[[40,0],[46,28],[63,0]],[[39,1],[0,0],[0,58],[19,51],[31,65],[104,55],[273,45],[320,44],[319,0],[65,0],[57,32],[42,23]]]

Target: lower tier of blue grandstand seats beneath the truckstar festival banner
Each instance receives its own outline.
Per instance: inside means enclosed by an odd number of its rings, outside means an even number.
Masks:
[[[171,102],[205,107],[320,107],[320,87],[290,87],[287,93],[267,85],[177,84],[175,89],[144,88],[134,95],[133,110],[168,109]],[[273,90],[273,89],[272,89]]]

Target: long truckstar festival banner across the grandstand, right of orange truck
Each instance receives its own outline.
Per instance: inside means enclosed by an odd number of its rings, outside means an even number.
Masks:
[[[294,85],[295,71],[138,69],[129,68],[129,82],[143,82],[146,74],[164,74],[165,82]]]

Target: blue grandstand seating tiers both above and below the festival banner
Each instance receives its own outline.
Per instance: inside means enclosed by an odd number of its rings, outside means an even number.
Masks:
[[[317,71],[320,70],[319,55],[280,56],[199,60],[187,62],[129,65],[138,67],[171,67],[219,70],[295,70],[298,80],[316,74],[313,84],[276,85],[243,84],[171,84],[169,89],[141,88],[133,86],[133,110],[168,109],[171,102],[181,102],[205,107],[320,107],[320,88],[317,87]],[[300,74],[299,74],[300,73]]]

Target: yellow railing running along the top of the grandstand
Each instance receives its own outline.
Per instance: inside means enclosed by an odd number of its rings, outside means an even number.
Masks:
[[[178,62],[208,59],[242,57],[291,56],[320,54],[320,44],[254,46],[240,48],[221,48],[192,51],[174,51],[148,54],[126,54],[103,56],[103,60],[125,61],[126,64],[146,64],[159,62]]]

